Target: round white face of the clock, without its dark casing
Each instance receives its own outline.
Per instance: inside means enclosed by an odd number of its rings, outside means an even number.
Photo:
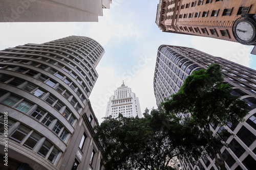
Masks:
[[[250,41],[254,38],[255,28],[249,21],[242,20],[237,24],[236,33],[242,41]]]

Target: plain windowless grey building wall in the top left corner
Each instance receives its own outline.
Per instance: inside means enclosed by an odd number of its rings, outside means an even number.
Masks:
[[[98,21],[112,0],[2,0],[0,22]]]

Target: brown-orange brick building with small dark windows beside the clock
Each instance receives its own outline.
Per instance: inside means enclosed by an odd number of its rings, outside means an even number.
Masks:
[[[244,44],[253,41],[251,43],[254,44],[255,19],[252,16],[245,16],[242,20],[235,20],[243,14],[255,13],[254,0],[160,0],[156,24],[163,32],[218,38]],[[242,22],[242,25],[235,27],[233,35],[233,25],[237,26],[241,21],[245,21],[246,25],[250,22],[248,29],[251,30],[247,31],[247,26],[242,29],[241,26],[245,26]],[[248,34],[247,37],[243,31],[252,34]]]

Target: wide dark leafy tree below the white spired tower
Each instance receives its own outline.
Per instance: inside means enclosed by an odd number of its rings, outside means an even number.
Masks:
[[[176,156],[199,157],[195,150],[202,141],[195,140],[192,132],[195,128],[184,127],[179,122],[179,118],[165,114],[161,108],[153,109],[151,114],[146,109],[143,118],[121,114],[116,119],[105,117],[95,127],[95,138],[104,149],[104,168],[166,170],[174,169],[169,161]]]

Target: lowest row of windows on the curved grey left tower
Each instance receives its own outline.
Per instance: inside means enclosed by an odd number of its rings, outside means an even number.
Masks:
[[[8,129],[10,129],[16,122],[8,119]],[[4,118],[0,118],[0,134],[4,133]],[[27,128],[24,125],[19,125],[11,134],[9,134],[9,138],[19,142],[25,147],[34,150],[38,147],[38,154],[42,157],[45,157],[50,162],[54,163],[57,155],[59,153],[58,149],[50,143],[48,140],[45,140],[43,136],[36,133],[34,130]],[[40,146],[38,146],[39,140],[45,140]]]

